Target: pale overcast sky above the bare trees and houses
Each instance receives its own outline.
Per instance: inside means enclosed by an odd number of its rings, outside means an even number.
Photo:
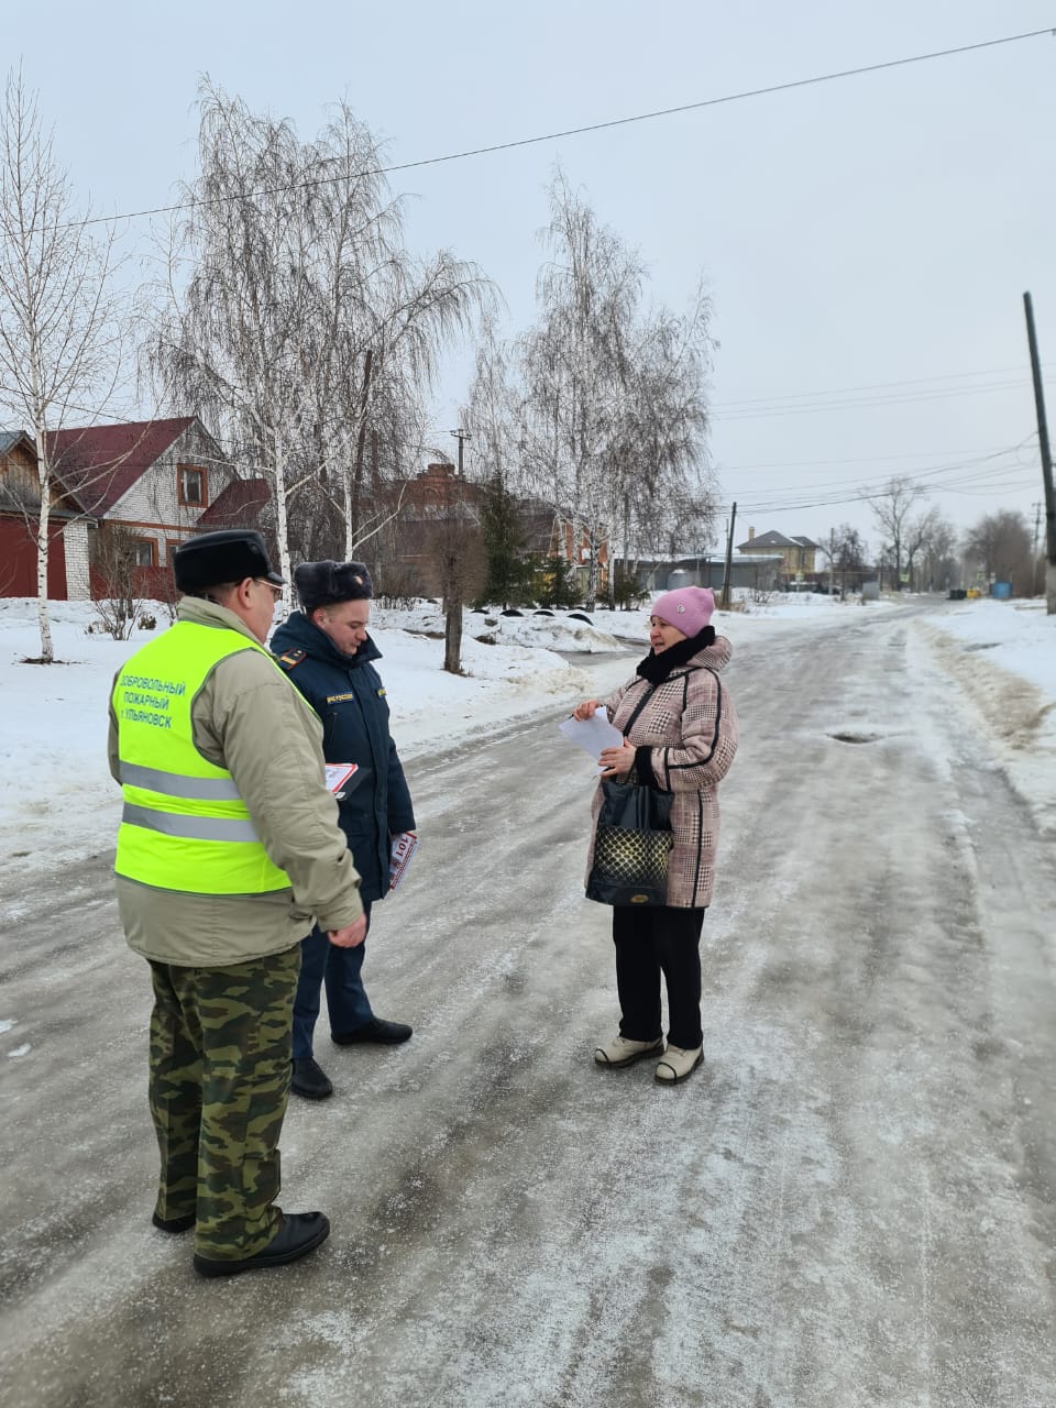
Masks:
[[[346,97],[411,162],[1046,25],[1053,0],[38,0],[8,7],[3,38],[77,190],[113,213],[162,206],[194,175],[201,73],[306,139]],[[411,245],[476,260],[511,332],[532,317],[558,161],[641,249],[658,298],[681,307],[707,275],[711,453],[738,541],[842,521],[870,538],[855,496],[894,473],[934,486],[960,527],[1004,507],[1033,524],[1022,293],[1056,420],[1055,118],[1042,37],[393,184],[417,197]],[[439,441],[470,366],[467,349],[449,359]]]

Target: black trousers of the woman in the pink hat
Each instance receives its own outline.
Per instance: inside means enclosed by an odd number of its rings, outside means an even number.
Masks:
[[[696,1050],[704,1041],[700,1026],[700,931],[703,910],[666,905],[612,910],[617,950],[620,1035],[650,1042],[660,1026],[660,974],[667,984],[667,1041]]]

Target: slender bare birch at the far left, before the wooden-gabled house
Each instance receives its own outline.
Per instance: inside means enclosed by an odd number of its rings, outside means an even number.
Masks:
[[[55,649],[48,615],[49,439],[70,413],[94,418],[121,370],[120,303],[111,291],[114,234],[97,238],[75,207],[69,175],[21,72],[8,75],[0,135],[0,406],[37,448],[41,662]]]

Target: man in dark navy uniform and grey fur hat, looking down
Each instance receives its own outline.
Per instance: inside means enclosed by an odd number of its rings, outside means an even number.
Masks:
[[[294,572],[303,611],[275,632],[279,665],[322,719],[328,763],[355,763],[339,801],[359,895],[370,926],[370,907],[389,893],[393,838],[414,832],[414,808],[396,745],[389,704],[373,662],[382,652],[367,635],[373,586],[360,562],[306,562]],[[320,994],[327,986],[331,1038],[338,1046],[396,1045],[411,1028],[375,1017],[360,970],[363,945],[334,948],[315,926],[301,945],[301,974],[293,1008],[291,1090],[308,1100],[332,1094],[313,1056]]]

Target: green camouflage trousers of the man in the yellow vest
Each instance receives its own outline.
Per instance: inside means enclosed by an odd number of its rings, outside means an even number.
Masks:
[[[300,952],[217,969],[151,962],[156,1211],[194,1212],[194,1250],[211,1260],[253,1256],[279,1231]]]

